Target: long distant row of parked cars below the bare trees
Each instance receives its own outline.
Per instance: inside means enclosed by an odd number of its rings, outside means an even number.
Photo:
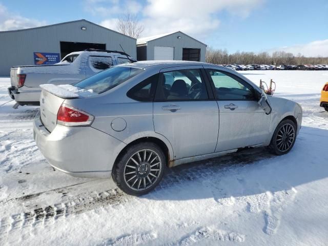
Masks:
[[[238,64],[228,64],[221,65],[226,68],[237,71],[245,70],[328,70],[328,65],[238,65]]]

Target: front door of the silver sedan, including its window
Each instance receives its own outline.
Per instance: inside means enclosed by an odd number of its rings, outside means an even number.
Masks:
[[[253,85],[227,71],[206,67],[219,106],[216,152],[263,144],[271,115],[258,105]]]

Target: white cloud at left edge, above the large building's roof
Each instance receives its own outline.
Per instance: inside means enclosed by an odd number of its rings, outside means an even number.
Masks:
[[[0,4],[0,31],[18,30],[46,25],[45,21],[29,19],[19,14],[8,12],[7,8]]]

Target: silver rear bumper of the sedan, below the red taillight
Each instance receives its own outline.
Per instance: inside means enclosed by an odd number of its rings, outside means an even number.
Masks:
[[[122,142],[92,127],[57,125],[50,133],[40,120],[33,121],[37,147],[55,169],[75,177],[108,178]]]

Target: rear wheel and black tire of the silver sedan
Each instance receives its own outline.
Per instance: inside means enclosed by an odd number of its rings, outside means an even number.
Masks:
[[[155,158],[156,155],[158,157]],[[140,142],[126,149],[119,156],[112,170],[112,178],[118,188],[125,193],[140,196],[150,192],[158,185],[166,167],[166,156],[156,144]]]

